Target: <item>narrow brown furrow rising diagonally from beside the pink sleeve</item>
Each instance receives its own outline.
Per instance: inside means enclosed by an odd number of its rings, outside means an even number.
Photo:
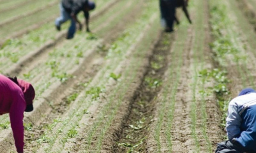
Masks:
[[[125,27],[131,23],[133,20],[136,19],[136,16],[140,14],[141,9],[140,7],[135,7],[133,11],[131,11],[130,14],[127,14],[124,17],[124,22],[120,22],[117,24],[111,31],[108,31],[106,35],[104,36],[104,43],[110,43],[111,41],[114,41],[114,39],[118,36],[120,31],[124,30]],[[33,126],[33,131],[26,131],[25,137],[26,141],[31,142],[35,141],[40,137],[41,134],[43,134],[43,127],[46,125],[49,125],[53,122],[53,119],[60,117],[63,113],[65,113],[68,109],[67,108],[67,97],[74,94],[74,93],[80,93],[82,90],[84,90],[83,86],[81,84],[84,84],[91,80],[97,72],[99,72],[100,67],[103,65],[104,62],[102,62],[103,55],[101,57],[97,56],[96,63],[89,62],[89,66],[87,66],[85,73],[82,76],[78,76],[79,78],[76,78],[76,83],[73,83],[74,85],[70,86],[65,92],[61,94],[61,96],[58,96],[57,98],[53,99],[55,102],[54,107],[50,108],[47,113],[44,113],[46,117],[43,119],[43,122],[40,124],[37,123],[36,126]],[[96,57],[92,57],[92,59],[96,59]],[[93,60],[95,61],[95,60]],[[98,61],[98,62],[97,62]],[[101,62],[100,62],[101,61]],[[50,98],[49,98],[50,99]],[[51,100],[52,101],[52,100]],[[33,137],[31,135],[34,135]],[[27,145],[27,144],[26,144]],[[25,146],[25,151],[30,152],[30,148],[33,148],[36,144],[31,144],[28,146]]]

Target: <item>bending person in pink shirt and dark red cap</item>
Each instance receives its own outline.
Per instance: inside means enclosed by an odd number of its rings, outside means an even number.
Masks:
[[[24,146],[24,111],[33,111],[35,90],[33,86],[15,78],[0,74],[0,115],[9,113],[12,133],[18,153],[23,153]]]

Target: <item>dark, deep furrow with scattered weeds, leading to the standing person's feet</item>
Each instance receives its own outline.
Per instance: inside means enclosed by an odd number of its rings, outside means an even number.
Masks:
[[[156,105],[154,98],[161,89],[172,39],[172,34],[164,33],[159,36],[153,54],[149,57],[146,74],[133,97],[134,100],[130,102],[128,110],[121,110],[127,112],[127,116],[123,117],[123,124],[117,128],[120,132],[115,134],[116,145],[113,146],[113,150],[109,150],[110,152],[147,152],[149,125],[154,118]]]

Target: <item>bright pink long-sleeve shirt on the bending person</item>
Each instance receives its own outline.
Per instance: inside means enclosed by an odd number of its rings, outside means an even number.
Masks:
[[[26,102],[21,88],[9,78],[0,74],[0,115],[9,113],[12,133],[17,152],[23,152],[23,113]]]

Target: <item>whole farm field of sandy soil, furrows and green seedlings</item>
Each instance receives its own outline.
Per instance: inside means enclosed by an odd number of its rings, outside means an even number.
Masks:
[[[157,0],[95,0],[92,33],[59,0],[0,0],[0,73],[30,82],[24,153],[213,153],[229,101],[256,89],[256,1],[193,0],[164,33]],[[79,15],[84,22],[83,14]],[[15,153],[9,115],[1,153]]]

